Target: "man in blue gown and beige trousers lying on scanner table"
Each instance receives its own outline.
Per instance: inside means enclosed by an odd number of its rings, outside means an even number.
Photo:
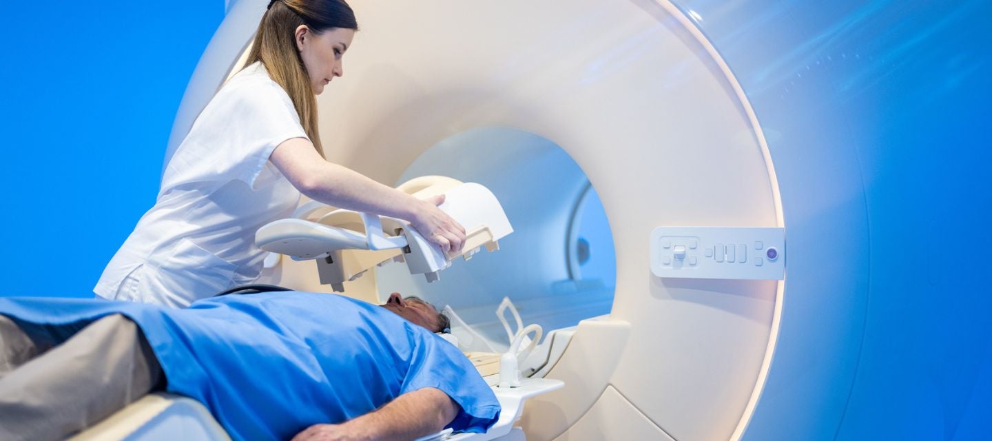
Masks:
[[[484,432],[499,403],[435,336],[433,306],[304,292],[169,308],[0,299],[0,439],[59,439],[151,390],[203,403],[234,439]]]

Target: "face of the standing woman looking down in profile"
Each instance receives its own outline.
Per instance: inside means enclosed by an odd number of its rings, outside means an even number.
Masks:
[[[341,76],[341,58],[351,47],[355,37],[353,29],[331,28],[321,34],[314,33],[305,25],[297,28],[297,49],[310,74],[310,88],[313,94],[320,94],[334,76]]]

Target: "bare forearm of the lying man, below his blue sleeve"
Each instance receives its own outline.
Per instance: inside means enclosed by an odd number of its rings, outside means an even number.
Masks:
[[[457,414],[458,404],[446,393],[426,387],[342,424],[314,424],[293,441],[413,440],[440,431]]]

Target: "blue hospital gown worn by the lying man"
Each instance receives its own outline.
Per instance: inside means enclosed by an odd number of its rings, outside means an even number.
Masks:
[[[227,295],[182,310],[98,299],[0,299],[0,314],[40,325],[115,313],[144,331],[167,390],[202,402],[234,439],[289,439],[423,387],[436,387],[461,406],[448,425],[456,431],[484,432],[499,416],[492,389],[455,347],[385,308],[347,297]]]

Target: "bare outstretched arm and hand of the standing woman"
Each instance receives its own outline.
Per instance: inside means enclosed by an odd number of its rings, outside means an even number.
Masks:
[[[459,250],[465,228],[436,206],[443,197],[421,201],[392,187],[325,160],[306,138],[284,141],[269,157],[290,182],[314,201],[356,212],[410,221],[445,251]],[[440,234],[443,239],[435,237]]]

